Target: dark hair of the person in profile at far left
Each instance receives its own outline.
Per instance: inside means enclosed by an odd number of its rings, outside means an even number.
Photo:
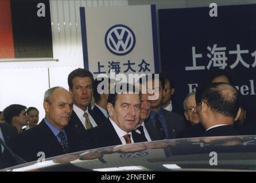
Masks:
[[[11,120],[14,116],[19,116],[22,110],[26,110],[26,106],[20,104],[9,105],[5,110],[3,110],[3,118],[5,121],[11,125]]]

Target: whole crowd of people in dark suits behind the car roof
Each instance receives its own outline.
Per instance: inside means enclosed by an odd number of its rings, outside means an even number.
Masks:
[[[103,81],[108,83],[107,92],[99,92]],[[13,104],[3,110],[1,140],[25,161],[36,161],[41,153],[48,158],[169,138],[254,134],[254,128],[245,125],[239,91],[224,70],[211,75],[210,82],[196,93],[189,93],[184,109],[172,101],[174,83],[169,73],[146,75],[139,85],[116,83],[111,88],[111,82],[94,79],[86,69],[73,70],[68,75],[69,91],[63,87],[46,90],[45,117],[38,125],[36,108]],[[15,164],[13,154],[1,145],[0,169]]]

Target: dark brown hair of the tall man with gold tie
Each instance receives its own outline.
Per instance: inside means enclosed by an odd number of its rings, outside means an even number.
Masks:
[[[73,79],[75,77],[90,77],[92,80],[92,85],[94,84],[94,76],[92,75],[92,73],[86,69],[78,68],[73,70],[70,74],[68,74],[68,86],[71,90],[73,89]]]

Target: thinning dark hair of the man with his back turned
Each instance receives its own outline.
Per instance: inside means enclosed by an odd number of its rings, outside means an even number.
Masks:
[[[212,83],[207,87],[201,98],[201,101],[203,100],[214,112],[234,118],[241,106],[238,90],[224,82]]]

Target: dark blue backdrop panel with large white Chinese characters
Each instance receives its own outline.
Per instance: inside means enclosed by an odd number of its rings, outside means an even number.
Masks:
[[[173,75],[174,101],[182,106],[210,70],[231,73],[246,107],[256,109],[256,5],[159,10],[162,71]],[[190,88],[190,89],[189,89]]]

